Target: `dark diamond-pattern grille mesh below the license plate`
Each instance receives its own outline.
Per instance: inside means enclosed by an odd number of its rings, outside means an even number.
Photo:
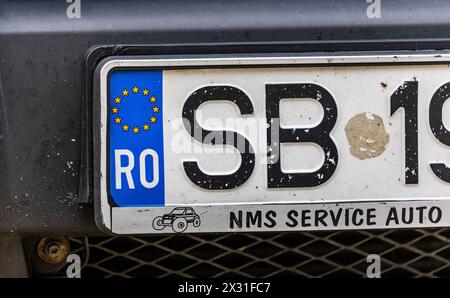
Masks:
[[[450,229],[72,238],[82,277],[450,277]],[[88,252],[88,253],[86,253]]]

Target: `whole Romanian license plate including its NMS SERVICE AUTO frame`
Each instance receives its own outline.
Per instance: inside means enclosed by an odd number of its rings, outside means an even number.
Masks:
[[[96,71],[116,234],[450,225],[450,56],[117,57]]]

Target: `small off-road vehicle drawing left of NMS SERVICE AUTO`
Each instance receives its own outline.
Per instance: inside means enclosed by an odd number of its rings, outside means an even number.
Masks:
[[[196,228],[200,226],[200,216],[191,207],[177,207],[170,213],[153,219],[153,228],[157,231],[172,227],[175,233],[184,232],[189,223]]]

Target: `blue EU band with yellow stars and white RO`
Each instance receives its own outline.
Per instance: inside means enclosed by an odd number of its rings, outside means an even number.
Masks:
[[[162,70],[116,70],[108,88],[110,198],[164,206]]]

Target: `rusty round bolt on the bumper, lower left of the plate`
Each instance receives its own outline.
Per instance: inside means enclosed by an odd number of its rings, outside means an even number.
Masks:
[[[44,237],[38,243],[39,258],[48,264],[64,262],[70,251],[69,241],[64,237]]]

